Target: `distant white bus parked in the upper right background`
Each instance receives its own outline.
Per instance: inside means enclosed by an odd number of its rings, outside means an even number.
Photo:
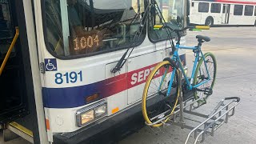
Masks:
[[[256,26],[256,0],[192,0],[190,23]]]

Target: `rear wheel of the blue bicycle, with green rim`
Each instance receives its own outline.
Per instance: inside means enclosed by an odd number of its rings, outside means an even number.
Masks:
[[[202,86],[198,86],[198,89],[210,88],[211,90],[213,90],[214,82],[215,82],[215,78],[216,78],[216,71],[217,71],[216,58],[214,57],[214,54],[209,53],[209,52],[204,54],[204,58],[206,60],[206,66],[207,66],[207,69],[209,71],[210,78],[212,78],[212,80],[210,82],[206,82],[205,84],[202,84]],[[213,66],[210,65],[210,63],[213,63]],[[204,64],[203,58],[200,58],[200,60],[198,62],[198,66],[195,70],[193,86],[202,82],[202,80],[207,77],[206,70],[203,69],[203,68],[206,68],[206,66]],[[201,81],[198,82],[199,80],[201,80]],[[201,95],[201,96],[199,96],[199,95]],[[195,99],[205,97],[205,100],[206,100],[207,98],[209,98],[210,95],[205,94],[203,91],[194,90],[194,98]],[[199,102],[205,102],[205,100],[202,100],[202,101],[199,101]]]

